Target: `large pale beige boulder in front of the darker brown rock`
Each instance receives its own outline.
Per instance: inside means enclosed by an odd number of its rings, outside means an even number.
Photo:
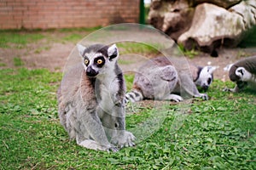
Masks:
[[[229,10],[211,3],[202,3],[195,8],[189,31],[178,37],[177,42],[185,48],[200,48],[216,54],[220,45],[236,46],[244,33],[256,23],[256,1],[236,4]]]

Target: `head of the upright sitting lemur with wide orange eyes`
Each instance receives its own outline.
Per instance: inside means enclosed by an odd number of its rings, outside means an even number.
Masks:
[[[88,48],[77,44],[79,54],[84,60],[84,69],[88,77],[107,73],[108,69],[116,64],[119,56],[118,48],[115,44],[106,46],[102,44],[91,45]]]

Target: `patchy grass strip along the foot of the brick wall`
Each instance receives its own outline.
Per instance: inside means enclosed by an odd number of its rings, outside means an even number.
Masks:
[[[49,50],[49,42],[79,42],[86,34],[96,31],[100,27],[95,28],[70,28],[70,29],[54,29],[54,30],[2,30],[0,31],[0,48],[26,48],[30,43],[40,43],[35,53],[42,50]],[[68,34],[66,35],[66,33]],[[57,34],[58,36],[55,36]],[[60,36],[61,35],[61,36]],[[44,40],[44,42],[42,42]],[[45,47],[44,47],[45,46]]]

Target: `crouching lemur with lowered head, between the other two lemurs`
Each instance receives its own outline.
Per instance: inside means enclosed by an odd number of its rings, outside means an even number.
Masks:
[[[215,66],[197,67],[190,65],[195,74],[189,77],[189,72],[177,72],[171,61],[166,57],[150,59],[142,65],[133,81],[131,92],[125,94],[125,103],[143,99],[182,101],[180,90],[193,97],[208,99],[207,94],[200,94],[196,85],[207,90],[213,80]],[[182,84],[182,86],[181,86]]]

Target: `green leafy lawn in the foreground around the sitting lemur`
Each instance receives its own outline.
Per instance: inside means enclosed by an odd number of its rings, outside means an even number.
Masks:
[[[215,81],[208,101],[141,107],[128,130],[164,116],[154,133],[117,153],[86,150],[68,139],[57,116],[61,73],[0,70],[0,169],[255,169],[256,94],[222,92]],[[125,77],[131,88],[132,76]],[[190,114],[180,114],[182,109]],[[154,115],[155,114],[155,115]],[[146,129],[148,130],[148,129]]]

